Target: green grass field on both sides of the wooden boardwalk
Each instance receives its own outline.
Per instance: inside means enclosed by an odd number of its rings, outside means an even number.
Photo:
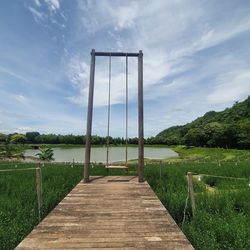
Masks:
[[[181,148],[180,159],[145,164],[145,177],[181,227],[187,197],[186,173],[246,178],[194,177],[196,215],[186,210],[183,231],[196,249],[250,249],[249,151]],[[0,169],[34,168],[38,164],[0,163]],[[45,164],[42,168],[43,216],[81,180],[82,166]],[[101,166],[92,175],[105,175]],[[125,174],[122,170],[112,175]],[[130,166],[135,174],[135,165]],[[35,171],[0,172],[0,249],[13,249],[38,223]]]

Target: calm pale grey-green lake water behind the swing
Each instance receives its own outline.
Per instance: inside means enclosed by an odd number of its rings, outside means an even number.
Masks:
[[[57,162],[83,162],[85,148],[53,148],[54,158]],[[28,149],[25,151],[25,156],[35,156],[39,150]],[[144,157],[150,159],[164,159],[170,157],[177,157],[178,154],[172,149],[168,148],[154,148],[145,147]],[[137,147],[128,148],[128,160],[133,160],[138,158]],[[125,160],[125,147],[110,147],[109,148],[109,159],[110,162],[124,161]],[[95,147],[91,149],[91,161],[92,162],[106,162],[106,148],[105,147]]]

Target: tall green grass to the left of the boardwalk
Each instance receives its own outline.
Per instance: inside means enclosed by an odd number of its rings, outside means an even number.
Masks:
[[[0,169],[38,167],[0,164]],[[44,218],[80,181],[82,167],[47,165],[42,168]],[[0,249],[15,246],[38,224],[35,171],[0,172]]]

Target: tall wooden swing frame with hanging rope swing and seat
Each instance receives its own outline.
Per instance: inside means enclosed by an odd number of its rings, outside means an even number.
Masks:
[[[85,164],[83,181],[88,183],[90,173],[90,155],[91,155],[91,133],[92,133],[92,115],[94,98],[94,79],[95,79],[95,59],[96,56],[109,57],[109,99],[108,99],[108,130],[107,130],[107,170],[110,168],[127,169],[127,139],[128,139],[128,57],[138,58],[138,181],[144,181],[144,126],[143,126],[143,53],[124,53],[124,52],[96,52],[91,51],[89,98],[87,113],[87,131],[85,145]],[[110,123],[110,87],[111,87],[111,57],[126,57],[126,166],[109,165],[109,123]]]

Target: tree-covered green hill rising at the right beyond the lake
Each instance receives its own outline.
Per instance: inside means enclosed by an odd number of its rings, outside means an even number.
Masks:
[[[152,138],[167,145],[250,148],[250,96],[224,111],[209,111],[183,126],[173,126]]]

